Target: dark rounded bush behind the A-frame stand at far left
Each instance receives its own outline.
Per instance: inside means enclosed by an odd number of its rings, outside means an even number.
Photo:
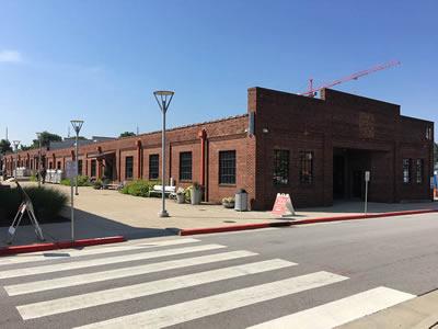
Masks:
[[[68,196],[55,189],[26,186],[23,190],[32,200],[36,218],[42,222],[51,222],[59,217],[64,206],[67,205]],[[0,190],[0,223],[10,225],[22,202],[18,189]]]

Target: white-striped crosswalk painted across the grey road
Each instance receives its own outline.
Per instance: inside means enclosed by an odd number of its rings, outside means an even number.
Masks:
[[[415,297],[377,286],[303,310],[291,307],[285,316],[266,314],[257,324],[251,317],[232,322],[239,309],[349,281],[323,270],[297,275],[299,268],[250,250],[177,238],[0,259],[0,285],[23,327],[30,321],[32,327],[45,327],[49,319],[59,328],[165,328],[223,316],[231,328],[322,329]],[[148,303],[160,296],[164,305]],[[123,306],[126,313],[105,311]],[[66,320],[72,314],[80,315],[73,325]]]

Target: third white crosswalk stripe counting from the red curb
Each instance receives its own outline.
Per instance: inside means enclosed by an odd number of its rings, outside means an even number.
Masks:
[[[117,270],[110,270],[110,271],[101,271],[101,272],[93,272],[87,274],[78,274],[71,276],[64,276],[58,279],[51,280],[42,280],[28,283],[21,283],[14,285],[7,285],[4,290],[10,296],[49,291],[55,288],[61,287],[69,287],[76,286],[81,284],[94,283],[94,282],[102,282],[107,280],[114,279],[122,279],[141,274],[148,274],[153,272],[166,271],[166,270],[174,270],[174,269],[182,269],[188,268],[194,265],[201,265],[208,263],[215,263],[220,261],[229,261],[239,258],[252,257],[256,256],[255,252],[250,251],[230,251],[230,252],[222,252],[222,253],[215,253],[215,254],[207,254],[194,258],[185,258],[172,261],[164,261],[159,263],[152,264],[145,264],[138,266],[130,266]]]

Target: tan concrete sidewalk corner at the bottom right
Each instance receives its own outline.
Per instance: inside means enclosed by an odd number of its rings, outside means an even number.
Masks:
[[[438,328],[438,291],[360,318],[338,329]]]

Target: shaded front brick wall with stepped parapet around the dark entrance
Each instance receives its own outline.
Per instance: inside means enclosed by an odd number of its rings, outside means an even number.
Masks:
[[[399,105],[334,90],[324,90],[319,100],[254,88],[249,111],[256,115],[256,208],[272,207],[276,193],[290,193],[298,207],[331,204],[334,147],[357,150],[351,168],[371,171],[370,201],[430,198],[428,179],[404,186],[401,168],[405,156],[424,158],[425,177],[431,173],[431,143],[424,136],[433,123],[401,116]],[[277,148],[290,151],[286,186],[273,183]],[[315,156],[312,185],[299,182],[301,150]]]

